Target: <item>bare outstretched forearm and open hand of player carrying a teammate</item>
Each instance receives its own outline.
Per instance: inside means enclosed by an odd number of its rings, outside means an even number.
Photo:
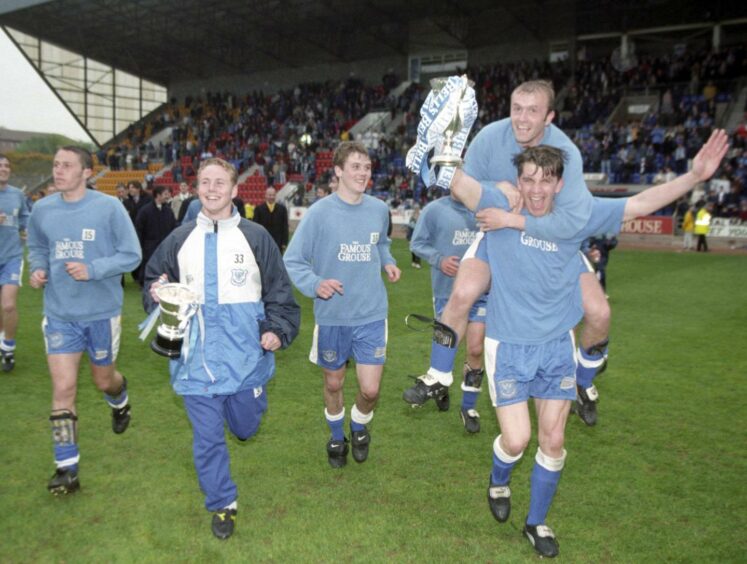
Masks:
[[[708,180],[718,169],[728,148],[726,132],[723,129],[714,130],[706,144],[695,155],[690,172],[630,198],[625,204],[623,220],[653,213],[692,190],[699,182]]]

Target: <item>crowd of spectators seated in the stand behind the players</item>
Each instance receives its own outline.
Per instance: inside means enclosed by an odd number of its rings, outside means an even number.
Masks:
[[[579,60],[573,74],[567,61],[499,63],[466,72],[480,100],[473,134],[509,115],[514,85],[550,78],[558,93],[556,123],[579,146],[585,171],[604,173],[614,183],[653,183],[686,171],[688,160],[720,117],[719,104],[730,100],[736,79],[747,76],[747,51],[740,45],[639,55],[637,64],[626,70],[615,68],[609,59]],[[377,126],[359,138],[371,153],[373,192],[395,204],[423,204],[430,194],[407,173],[404,161],[430,88],[412,84],[395,96],[392,91],[398,84],[389,72],[374,86],[351,76],[299,84],[274,94],[206,92],[174,99],[99,158],[115,170],[147,168],[149,162],[162,161],[178,182],[193,178],[200,159],[220,156],[240,171],[256,167],[268,186],[282,186],[292,178],[313,193],[310,188],[327,183],[331,174],[328,167],[317,166],[317,156],[349,139],[351,127],[367,113],[383,111],[391,114],[396,127]],[[610,119],[622,97],[636,92],[653,95],[657,102],[637,119]],[[166,127],[171,128],[168,139],[158,145],[149,141]],[[744,124],[734,137],[719,179],[724,182],[714,183],[724,202],[717,213],[733,213],[735,198],[739,209],[745,194]]]

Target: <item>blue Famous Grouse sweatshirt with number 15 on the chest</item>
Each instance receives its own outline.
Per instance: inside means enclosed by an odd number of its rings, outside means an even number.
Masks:
[[[39,200],[28,226],[30,272],[43,270],[44,315],[61,321],[95,321],[122,311],[120,276],[140,263],[140,243],[124,206],[86,190],[77,202],[61,194]],[[82,262],[89,280],[76,281],[65,263]]]

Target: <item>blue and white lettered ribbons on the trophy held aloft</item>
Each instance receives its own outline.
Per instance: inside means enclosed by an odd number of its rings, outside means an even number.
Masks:
[[[407,152],[406,165],[412,172],[420,174],[426,186],[436,184],[448,189],[451,184],[455,167],[443,166],[437,175],[435,167],[428,162],[428,155],[434,149],[436,154],[442,152],[445,132],[456,115],[461,128],[451,139],[451,150],[461,154],[477,118],[475,91],[466,75],[450,76],[440,90],[428,93],[420,108],[418,138]]]

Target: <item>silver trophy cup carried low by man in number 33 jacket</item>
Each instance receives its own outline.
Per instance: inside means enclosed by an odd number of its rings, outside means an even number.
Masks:
[[[160,355],[176,358],[181,354],[189,320],[200,307],[199,296],[184,284],[164,284],[156,290],[159,324],[150,348]]]

